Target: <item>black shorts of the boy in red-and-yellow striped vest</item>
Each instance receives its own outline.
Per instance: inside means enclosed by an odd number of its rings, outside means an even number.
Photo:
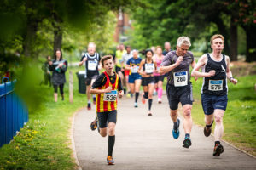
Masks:
[[[99,121],[99,127],[105,128],[108,127],[108,122],[116,123],[117,111],[105,111],[105,112],[97,112],[97,117]]]

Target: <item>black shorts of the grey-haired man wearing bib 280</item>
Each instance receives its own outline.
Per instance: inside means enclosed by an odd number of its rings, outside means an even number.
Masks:
[[[192,105],[194,101],[191,83],[183,87],[174,87],[174,85],[167,83],[166,93],[171,110],[177,110],[179,102],[181,102],[182,105]]]

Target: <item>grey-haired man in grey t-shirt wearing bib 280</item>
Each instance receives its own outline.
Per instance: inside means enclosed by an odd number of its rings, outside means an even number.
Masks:
[[[174,139],[179,137],[180,120],[177,118],[178,103],[183,106],[183,128],[185,139],[183,147],[189,148],[192,144],[190,133],[192,129],[192,84],[190,82],[189,65],[195,66],[194,56],[189,52],[191,42],[189,37],[179,37],[177,39],[177,50],[166,54],[161,66],[160,74],[168,73],[166,92],[171,109],[171,118],[174,122],[172,135]]]

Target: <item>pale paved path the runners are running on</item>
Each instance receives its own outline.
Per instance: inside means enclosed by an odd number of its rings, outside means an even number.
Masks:
[[[200,127],[193,126],[192,146],[183,148],[182,126],[179,139],[172,137],[166,95],[162,104],[157,104],[155,98],[153,102],[153,116],[147,116],[147,103],[138,102],[139,107],[134,108],[133,99],[119,99],[114,166],[106,164],[108,138],[90,130],[90,122],[96,117],[95,106],[91,111],[79,111],[74,117],[73,139],[80,167],[83,170],[256,169],[256,159],[228,144],[222,143],[224,153],[213,157],[214,139],[206,138]]]

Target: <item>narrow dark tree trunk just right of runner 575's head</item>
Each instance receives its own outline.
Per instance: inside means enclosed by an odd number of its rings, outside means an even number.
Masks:
[[[237,25],[234,17],[230,20],[230,61],[237,61]]]

